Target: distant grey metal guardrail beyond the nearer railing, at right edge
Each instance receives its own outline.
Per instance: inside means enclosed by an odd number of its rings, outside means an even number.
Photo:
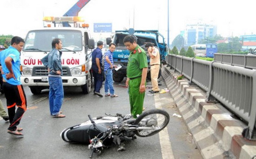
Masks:
[[[248,69],[256,69],[256,55],[214,54],[214,61]]]

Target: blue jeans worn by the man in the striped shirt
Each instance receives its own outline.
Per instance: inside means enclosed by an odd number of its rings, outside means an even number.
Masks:
[[[114,88],[113,88],[113,71],[109,68],[104,71],[106,79],[105,79],[105,95],[108,94],[108,89],[110,95],[114,95]]]

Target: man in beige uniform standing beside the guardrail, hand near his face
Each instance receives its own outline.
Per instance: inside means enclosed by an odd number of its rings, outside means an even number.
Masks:
[[[150,90],[150,93],[158,93],[158,74],[160,70],[160,53],[159,50],[154,47],[153,43],[147,43],[145,47],[148,49],[148,54],[150,56],[150,77],[151,77],[151,83],[152,83],[152,90]]]

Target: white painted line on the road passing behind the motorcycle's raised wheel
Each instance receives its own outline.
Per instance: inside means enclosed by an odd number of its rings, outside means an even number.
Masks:
[[[162,109],[162,104],[160,102],[159,94],[154,95],[155,101],[155,108]],[[165,127],[162,131],[159,132],[159,139],[161,145],[161,152],[162,152],[162,159],[174,159],[172,145],[170,142],[170,137],[168,134],[168,129]]]

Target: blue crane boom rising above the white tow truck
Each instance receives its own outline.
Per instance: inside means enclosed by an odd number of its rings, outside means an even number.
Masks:
[[[90,0],[78,0],[78,2],[76,2],[74,4],[74,6],[72,6],[63,16],[64,17],[72,17],[72,16],[78,16],[78,13],[81,11],[81,9],[88,4]],[[64,27],[70,27],[70,25],[68,24],[68,22],[62,22],[62,25]]]

